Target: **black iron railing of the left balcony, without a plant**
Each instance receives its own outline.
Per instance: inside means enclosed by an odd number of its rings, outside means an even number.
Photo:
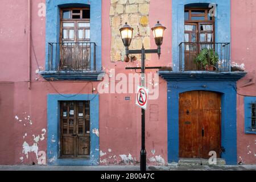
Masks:
[[[96,71],[96,44],[48,43],[47,71]]]

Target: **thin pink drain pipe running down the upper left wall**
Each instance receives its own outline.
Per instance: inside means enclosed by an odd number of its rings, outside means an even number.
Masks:
[[[31,89],[31,0],[27,0],[28,4],[28,34],[27,34],[27,77],[28,77],[28,89]]]

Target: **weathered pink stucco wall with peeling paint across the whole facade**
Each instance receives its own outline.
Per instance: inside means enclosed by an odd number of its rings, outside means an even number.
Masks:
[[[46,57],[46,18],[38,16],[38,4],[44,2],[32,1],[32,43],[40,70],[44,70]],[[22,150],[24,142],[32,146],[38,135],[42,138],[38,142],[39,151],[47,150],[47,131],[45,135],[42,131],[47,129],[47,94],[56,94],[56,90],[63,94],[75,94],[85,85],[84,82],[69,81],[49,84],[37,73],[38,65],[31,48],[32,78],[31,90],[28,89],[27,7],[27,0],[13,0],[11,3],[2,0],[0,6],[1,14],[5,15],[5,18],[1,16],[0,21],[0,164],[37,164],[34,152],[28,153],[27,158]],[[136,66],[138,62],[110,62],[110,0],[102,1],[102,7],[102,67],[106,73],[110,69],[115,69],[116,74],[131,73],[125,71],[125,67]],[[251,77],[255,78],[255,7],[255,0],[232,0],[232,61],[244,63],[249,72],[238,81],[238,93],[249,96],[256,96],[255,84],[241,86]],[[167,30],[160,60],[154,55],[147,66],[171,65],[171,8],[169,0],[151,0],[150,27],[160,20]],[[155,48],[152,35],[151,48]],[[161,156],[167,162],[167,85],[162,78],[159,81],[159,98],[149,102],[149,105],[159,106],[158,122],[150,122],[150,109],[146,111],[146,150],[148,159]],[[97,85],[98,82],[93,82],[93,87],[97,88]],[[82,93],[92,93],[92,85],[88,84]],[[131,100],[125,101],[126,96],[130,96]],[[100,95],[100,151],[103,154],[106,152],[106,155],[101,156],[102,165],[122,162],[119,155],[131,154],[134,160],[139,160],[141,109],[134,103],[135,94]],[[237,96],[237,105],[237,160],[255,164],[256,137],[244,134],[243,96]]]

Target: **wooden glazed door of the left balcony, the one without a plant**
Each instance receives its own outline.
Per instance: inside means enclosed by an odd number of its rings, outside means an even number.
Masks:
[[[90,69],[90,9],[63,9],[60,22],[60,69]]]

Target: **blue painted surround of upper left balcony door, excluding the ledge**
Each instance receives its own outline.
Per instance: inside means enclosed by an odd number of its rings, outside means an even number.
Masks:
[[[101,71],[101,0],[46,0],[46,70],[48,70],[48,43],[59,42],[60,8],[82,6],[90,6],[90,42],[97,45],[96,71]]]

